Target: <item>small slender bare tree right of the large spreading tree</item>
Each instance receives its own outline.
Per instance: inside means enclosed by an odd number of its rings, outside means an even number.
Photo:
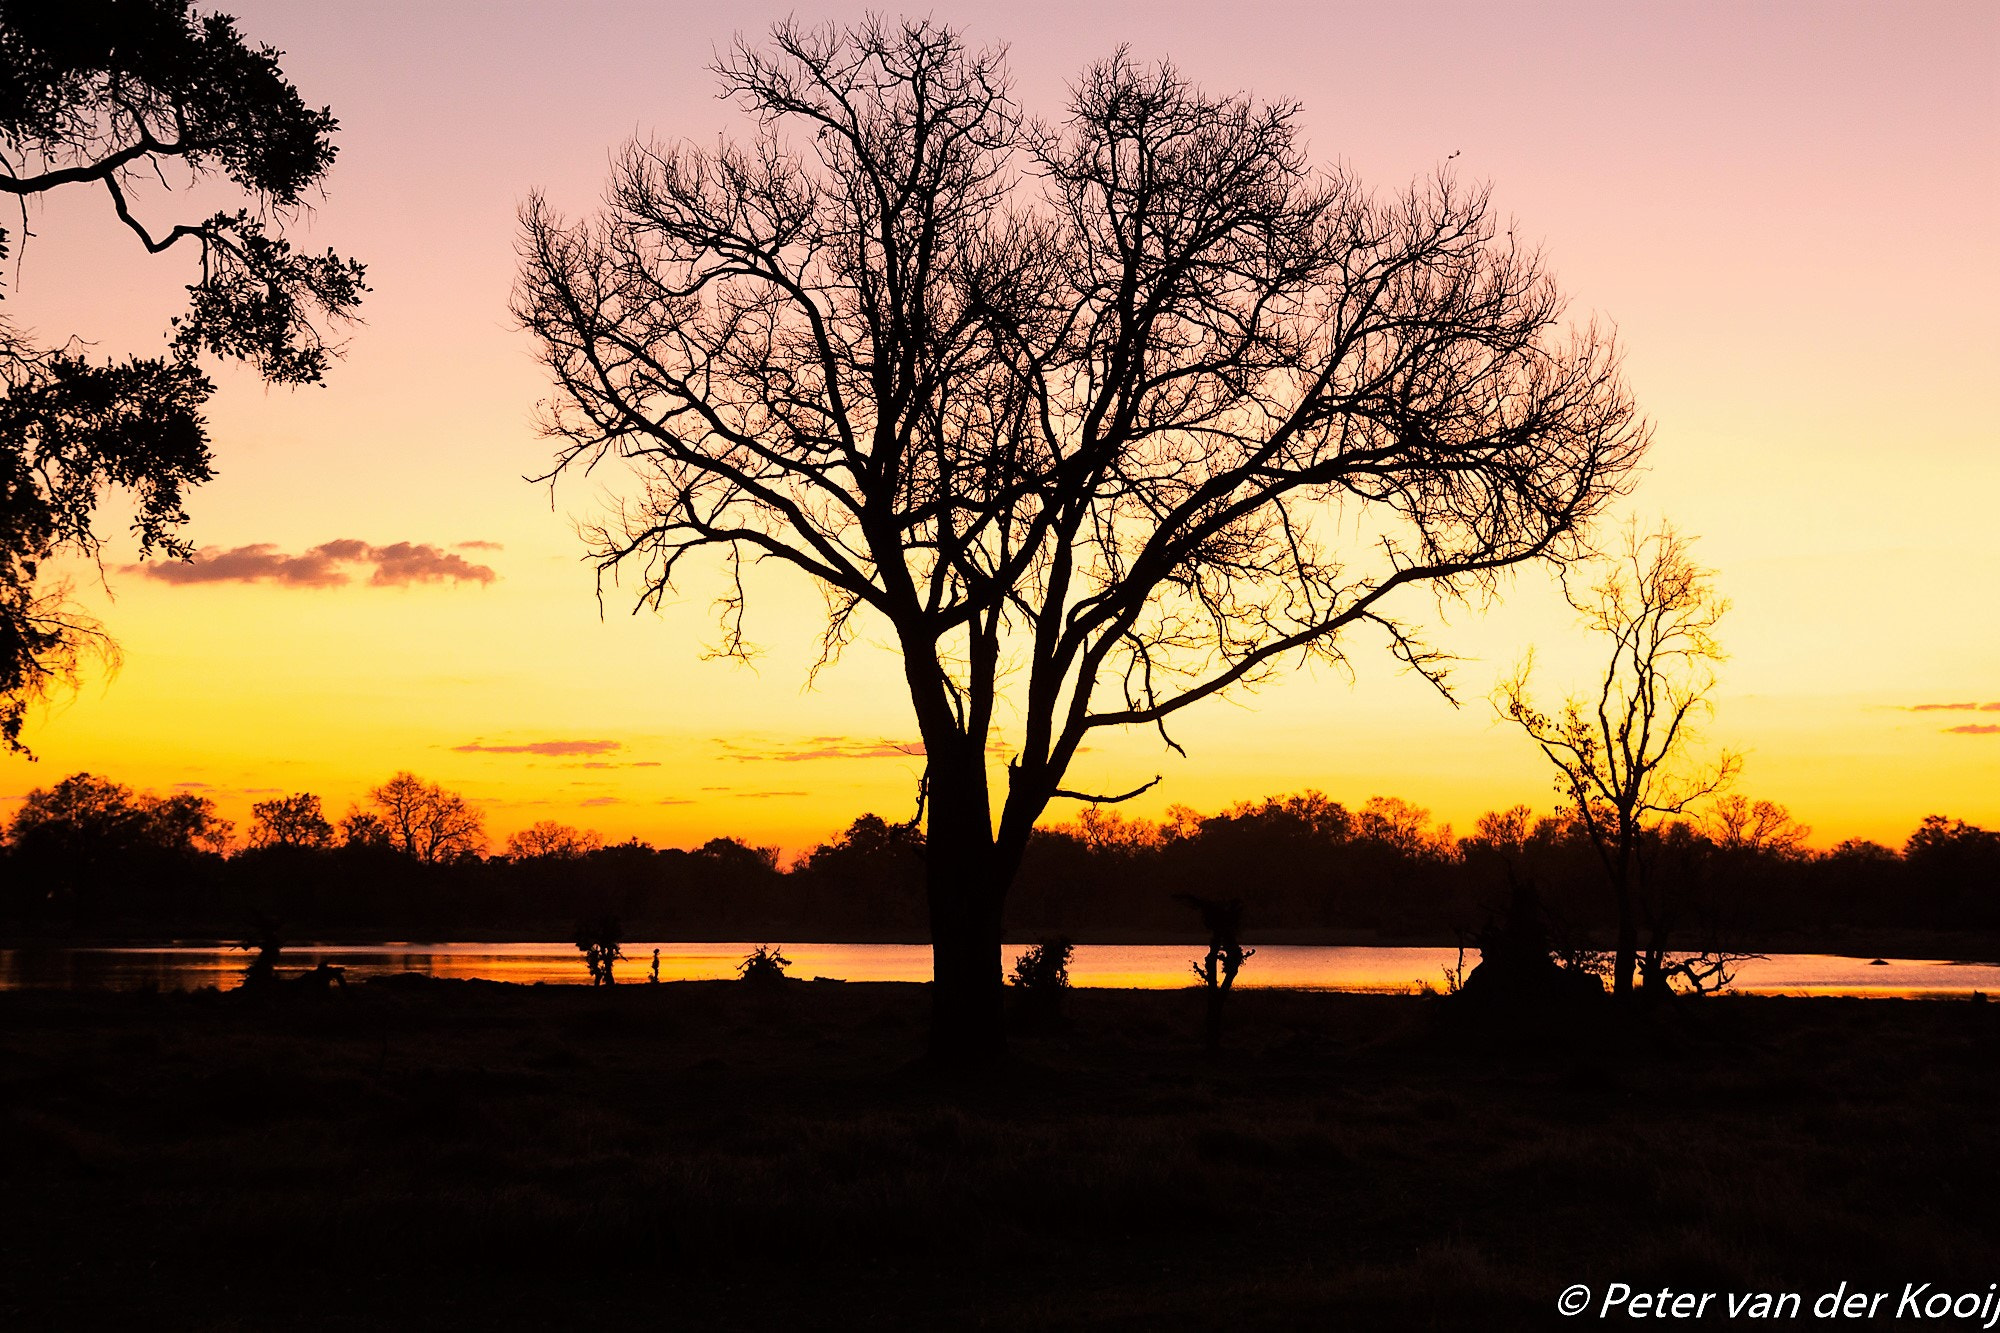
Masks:
[[[1556,767],[1566,813],[1588,835],[1618,909],[1612,989],[1632,993],[1640,927],[1650,927],[1650,969],[1664,965],[1676,893],[1650,883],[1662,827],[1734,781],[1740,761],[1724,751],[1694,761],[1700,723],[1714,713],[1716,622],[1728,602],[1714,570],[1690,556],[1690,538],[1670,524],[1626,528],[1624,548],[1588,592],[1570,588],[1584,626],[1610,642],[1594,695],[1570,695],[1562,713],[1530,697],[1534,654],[1494,691],[1494,707]]]

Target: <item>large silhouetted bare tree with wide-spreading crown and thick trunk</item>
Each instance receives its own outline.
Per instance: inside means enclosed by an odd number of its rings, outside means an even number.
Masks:
[[[888,624],[926,757],[932,1053],[980,1057],[1008,885],[1084,797],[1092,733],[1166,739],[1342,662],[1354,626],[1440,681],[1390,598],[1578,554],[1646,428],[1484,188],[1370,196],[1306,164],[1288,102],[1120,52],[1040,122],[1000,52],[928,20],[784,22],[716,74],[748,144],[632,144],[602,214],[522,210],[546,480],[630,464],[592,544],[640,604],[718,548],[820,582],[822,664],[856,612]],[[728,652],[742,612],[738,576]]]

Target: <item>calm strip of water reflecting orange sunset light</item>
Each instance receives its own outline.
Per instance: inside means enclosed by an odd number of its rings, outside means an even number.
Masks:
[[[750,945],[626,945],[620,981],[644,981],[652,951],[660,951],[660,981],[714,981],[736,975]],[[1008,945],[1006,957],[1020,953]],[[1194,981],[1194,945],[1078,945],[1070,981],[1080,987],[1134,987],[1160,991]],[[786,945],[792,977],[842,981],[930,981],[928,945]],[[1476,961],[1468,953],[1466,961]],[[488,981],[584,983],[582,957],[572,945],[326,945],[286,949],[278,971],[318,963],[348,969],[350,979],[390,973],[430,977],[480,977]],[[1442,989],[1444,969],[1456,949],[1378,949],[1332,945],[1262,945],[1244,965],[1238,985],[1298,987],[1318,991]],[[248,955],[238,949],[164,945],[146,949],[0,949],[0,991],[24,987],[102,987],[162,991],[234,987]],[[2000,967],[1930,959],[1866,959],[1822,953],[1776,953],[1744,963],[1736,989],[1756,995],[1872,995],[1950,997],[1986,991],[2000,995]]]

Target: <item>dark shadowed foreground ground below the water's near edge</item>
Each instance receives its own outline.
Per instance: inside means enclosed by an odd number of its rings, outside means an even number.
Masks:
[[[1574,1283],[2000,1281],[2000,1005],[1252,991],[1210,1057],[1196,995],[1086,991],[970,1083],[908,1065],[924,1005],[0,995],[0,1327],[1582,1327]]]

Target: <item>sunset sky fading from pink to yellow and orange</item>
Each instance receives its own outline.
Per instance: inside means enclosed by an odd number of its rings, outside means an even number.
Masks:
[[[30,723],[40,763],[0,759],[0,813],[78,769],[204,791],[238,821],[282,791],[340,811],[412,769],[500,837],[564,819],[800,849],[860,811],[908,815],[918,761],[896,745],[914,727],[880,634],[808,695],[804,582],[752,586],[754,669],[702,658],[706,576],[662,614],[610,590],[600,618],[572,532],[598,496],[522,482],[548,446],[506,316],[516,206],[534,186],[590,206],[634,134],[740,134],[704,66],[786,10],[222,8],[342,122],[298,234],[368,262],[366,324],[324,388],[220,376],[220,478],[190,534],[234,552],[210,568],[228,578],[136,572],[118,542],[102,584],[74,570],[124,669]],[[930,12],[1010,44],[1030,110],[1058,112],[1066,80],[1130,44],[1212,90],[1298,98],[1312,154],[1376,188],[1456,152],[1544,242],[1572,310],[1620,330],[1656,422],[1632,510],[1700,534],[1734,602],[1710,737],[1748,755],[1742,791],[1818,845],[1900,843],[1928,813],[2000,825],[2000,450],[1980,390],[2000,364],[2000,6]],[[174,206],[154,190],[142,212]],[[16,318],[102,352],[158,346],[192,256],[146,258],[100,196],[60,194],[32,224]],[[1542,574],[1432,624],[1466,658],[1458,711],[1356,644],[1352,683],[1300,673],[1200,707],[1176,731],[1188,759],[1150,735],[1100,743],[1070,785],[1164,773],[1142,815],[1302,787],[1398,795],[1460,831],[1546,809],[1550,775],[1484,697],[1528,644],[1550,695],[1594,648]]]

